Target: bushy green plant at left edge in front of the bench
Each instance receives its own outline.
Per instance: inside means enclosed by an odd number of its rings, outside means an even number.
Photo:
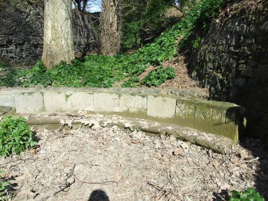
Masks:
[[[24,117],[6,116],[0,122],[0,155],[20,154],[37,145]]]

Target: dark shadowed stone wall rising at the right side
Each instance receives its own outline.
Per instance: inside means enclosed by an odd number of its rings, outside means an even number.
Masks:
[[[268,140],[268,2],[248,10],[243,3],[230,9],[222,28],[211,23],[190,74],[209,88],[210,99],[245,107],[247,134]]]

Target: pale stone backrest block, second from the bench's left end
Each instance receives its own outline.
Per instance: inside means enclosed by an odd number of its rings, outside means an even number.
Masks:
[[[43,112],[44,99],[41,92],[25,92],[15,95],[15,106],[18,113]]]

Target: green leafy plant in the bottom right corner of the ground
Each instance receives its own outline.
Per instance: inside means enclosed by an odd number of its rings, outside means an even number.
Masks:
[[[246,191],[232,191],[232,198],[229,201],[264,201],[264,198],[254,188],[247,188]]]

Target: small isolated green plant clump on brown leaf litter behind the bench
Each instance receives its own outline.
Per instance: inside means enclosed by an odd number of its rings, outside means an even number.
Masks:
[[[142,80],[142,84],[147,86],[160,86],[167,79],[175,78],[175,71],[172,67],[158,67],[155,70],[151,71],[145,78]]]

